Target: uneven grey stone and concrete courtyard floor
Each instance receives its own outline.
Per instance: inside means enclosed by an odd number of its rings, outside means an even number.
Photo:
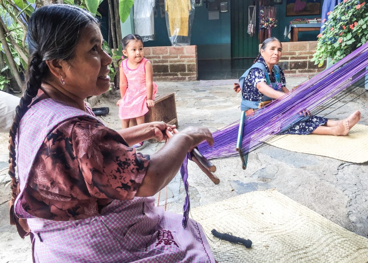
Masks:
[[[291,78],[288,87],[304,80]],[[232,85],[198,86],[199,81],[157,84],[159,94],[175,93],[179,130],[188,125],[203,125],[213,132],[238,120],[241,99]],[[353,99],[353,95],[346,97],[335,104],[333,107],[338,109],[326,117],[340,119],[360,110],[362,119],[359,123],[368,125],[367,93],[357,99]],[[112,92],[94,106],[110,108],[110,114],[103,116],[102,120],[113,129],[120,128],[116,106],[118,96],[118,91]],[[32,262],[29,238],[22,240],[15,227],[8,225],[10,189],[4,164],[8,158],[7,140],[7,134],[0,134],[0,262]],[[141,152],[152,154],[162,146],[163,143],[145,142]],[[329,157],[289,152],[270,145],[250,153],[247,170],[241,168],[240,158],[214,160],[213,163],[217,167],[219,185],[213,184],[194,163],[189,162],[191,207],[248,191],[276,188],[347,230],[368,237],[368,163],[347,163]],[[184,194],[178,174],[168,185],[167,210],[181,213]],[[164,205],[163,196],[164,190],[160,206]]]

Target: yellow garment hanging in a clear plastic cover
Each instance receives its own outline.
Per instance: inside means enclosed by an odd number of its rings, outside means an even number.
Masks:
[[[190,45],[195,0],[165,0],[167,33],[171,45]]]

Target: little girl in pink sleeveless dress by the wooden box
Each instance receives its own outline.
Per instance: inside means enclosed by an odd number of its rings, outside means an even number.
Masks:
[[[121,44],[124,55],[120,65],[121,99],[116,105],[119,106],[119,118],[124,129],[129,127],[131,118],[135,118],[137,124],[144,123],[148,108],[155,106],[157,85],[152,80],[152,64],[144,58],[141,36],[127,35],[121,40]],[[142,145],[143,142],[139,142],[133,147]]]

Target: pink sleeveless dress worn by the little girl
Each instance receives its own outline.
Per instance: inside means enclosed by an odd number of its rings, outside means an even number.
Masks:
[[[125,59],[121,62],[124,74],[127,77],[128,87],[119,106],[120,120],[141,117],[148,112],[145,70],[147,61],[148,59],[143,58],[138,67],[134,70],[129,68],[128,59]],[[157,85],[155,82],[152,84],[152,99],[155,100]]]

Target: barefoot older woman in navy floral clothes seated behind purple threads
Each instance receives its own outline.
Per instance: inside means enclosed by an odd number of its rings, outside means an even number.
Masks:
[[[282,54],[282,44],[277,38],[266,39],[255,63],[239,79],[242,101],[240,109],[245,114],[252,113],[258,102],[278,99],[289,90],[282,68],[276,65]],[[254,107],[254,108],[252,108]],[[327,118],[310,115],[309,118],[291,125],[289,129],[280,134],[321,134],[321,135],[347,135],[349,130],[360,120],[360,111],[355,111],[343,120],[329,120]]]

